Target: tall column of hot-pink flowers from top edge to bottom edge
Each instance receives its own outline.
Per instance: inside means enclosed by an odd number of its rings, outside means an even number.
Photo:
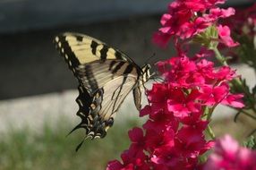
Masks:
[[[207,40],[218,40],[226,47],[237,46],[229,28],[217,24],[219,18],[235,13],[233,8],[216,6],[224,2],[175,0],[169,4],[168,13],[161,19],[162,28],[153,39],[165,47],[174,37],[178,56],[158,62],[158,72],[165,81],[154,83],[152,89],[146,91],[149,105],[140,112],[140,116],[147,115],[149,120],[142,128],[129,131],[130,148],[121,155],[122,161],[110,161],[107,170],[201,169],[210,164],[199,165],[199,157],[214,145],[214,141],[205,140],[204,135],[209,115],[218,104],[243,107],[243,95],[230,93],[228,83],[237,77],[234,70],[228,66],[216,69],[214,63],[204,57],[209,55],[207,49],[202,48],[190,59],[179,40],[214,27],[213,34],[218,32],[218,39],[214,39],[215,36]]]

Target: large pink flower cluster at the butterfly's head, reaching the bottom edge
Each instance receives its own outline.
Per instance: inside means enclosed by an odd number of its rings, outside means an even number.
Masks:
[[[235,72],[213,66],[185,55],[158,63],[166,81],[147,91],[149,105],[140,116],[149,115],[149,120],[143,129],[129,132],[132,144],[121,156],[123,163],[111,161],[107,169],[195,169],[198,157],[213,145],[203,133],[209,123],[202,119],[204,107],[243,106],[243,96],[230,94],[227,85]]]

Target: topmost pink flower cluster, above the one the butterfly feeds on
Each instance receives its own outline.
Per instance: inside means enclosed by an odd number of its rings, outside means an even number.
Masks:
[[[192,38],[194,35],[216,24],[219,18],[235,14],[233,8],[220,9],[216,5],[225,0],[175,0],[169,4],[168,12],[162,16],[162,27],[153,36],[153,41],[160,47],[166,47],[172,37]],[[219,42],[227,47],[235,47],[226,26],[218,26]]]

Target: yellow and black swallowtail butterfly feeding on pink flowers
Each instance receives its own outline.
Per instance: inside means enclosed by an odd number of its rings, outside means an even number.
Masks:
[[[144,83],[150,78],[149,64],[140,67],[118,49],[80,33],[60,34],[54,44],[79,81],[76,102],[81,123],[72,132],[84,128],[85,138],[104,138],[130,91],[136,108],[141,109]]]

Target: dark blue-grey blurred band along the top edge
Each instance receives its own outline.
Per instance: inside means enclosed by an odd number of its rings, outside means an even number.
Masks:
[[[1,0],[0,33],[162,13],[171,0]],[[253,0],[228,0],[226,5]]]

